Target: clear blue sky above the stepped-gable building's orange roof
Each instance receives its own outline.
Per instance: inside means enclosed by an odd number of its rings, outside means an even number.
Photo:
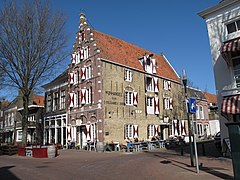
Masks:
[[[68,48],[72,49],[84,12],[98,31],[163,53],[181,76],[186,69],[194,87],[215,94],[212,59],[205,21],[198,12],[220,0],[52,0],[67,17]],[[0,0],[1,5],[1,0]],[[66,59],[66,68],[70,57]],[[63,72],[64,69],[59,71]]]

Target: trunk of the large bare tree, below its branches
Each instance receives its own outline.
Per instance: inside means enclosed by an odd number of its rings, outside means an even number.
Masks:
[[[23,112],[22,112],[22,145],[27,145],[27,134],[28,134],[28,104],[29,95],[23,93]]]

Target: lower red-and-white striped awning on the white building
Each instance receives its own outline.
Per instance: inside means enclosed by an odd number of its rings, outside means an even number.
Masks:
[[[224,97],[222,101],[222,113],[240,114],[240,95]]]

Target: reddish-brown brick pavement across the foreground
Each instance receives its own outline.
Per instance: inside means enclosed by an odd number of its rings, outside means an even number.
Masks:
[[[157,149],[140,153],[60,150],[56,158],[0,156],[0,179],[233,179],[230,159],[200,157],[200,173],[189,155]]]

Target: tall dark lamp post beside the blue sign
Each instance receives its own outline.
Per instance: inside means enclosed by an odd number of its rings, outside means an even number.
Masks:
[[[191,123],[189,118],[189,108],[188,108],[188,102],[187,102],[187,75],[185,69],[183,70],[182,74],[182,83],[184,86],[184,93],[185,93],[185,103],[186,103],[186,110],[187,110],[187,120],[188,120],[188,134],[189,134],[189,145],[190,145],[190,160],[191,160],[191,166],[193,167],[193,146],[192,146],[192,129],[191,129]]]

